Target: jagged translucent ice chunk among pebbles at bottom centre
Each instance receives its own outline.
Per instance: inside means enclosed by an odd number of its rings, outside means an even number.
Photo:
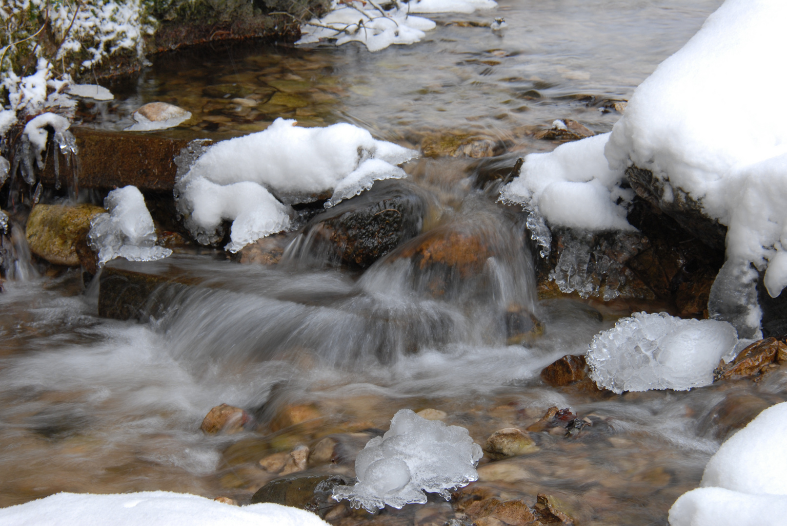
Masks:
[[[481,446],[464,427],[446,426],[402,409],[393,415],[390,429],[369,440],[358,454],[358,483],[337,486],[334,499],[348,499],[370,512],[386,504],[394,508],[423,504],[424,491],[448,500],[450,489],[478,480],[475,466],[482,455]]]

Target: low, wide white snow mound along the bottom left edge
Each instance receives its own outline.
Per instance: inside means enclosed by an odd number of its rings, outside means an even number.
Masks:
[[[326,526],[314,513],[262,503],[231,506],[198,495],[140,491],[57,493],[0,509],[0,523],[30,526]]]

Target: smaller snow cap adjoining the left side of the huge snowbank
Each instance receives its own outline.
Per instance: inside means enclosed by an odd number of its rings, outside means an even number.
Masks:
[[[608,138],[604,133],[527,155],[519,177],[501,189],[501,200],[523,204],[551,226],[633,230],[626,205],[634,192],[619,187],[623,170],[609,168],[604,157]]]

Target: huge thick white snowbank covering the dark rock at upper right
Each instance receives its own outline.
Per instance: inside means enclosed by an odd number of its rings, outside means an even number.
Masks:
[[[634,91],[606,148],[610,166],[669,179],[730,230],[727,254],[787,285],[787,2],[727,0]],[[756,86],[731,103],[730,86]]]

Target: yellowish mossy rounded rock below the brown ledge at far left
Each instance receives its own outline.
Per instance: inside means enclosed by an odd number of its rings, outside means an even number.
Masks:
[[[95,273],[95,256],[87,246],[87,232],[91,219],[105,212],[101,206],[87,204],[34,206],[26,228],[31,252],[55,265],[74,266],[85,261],[88,272]]]

